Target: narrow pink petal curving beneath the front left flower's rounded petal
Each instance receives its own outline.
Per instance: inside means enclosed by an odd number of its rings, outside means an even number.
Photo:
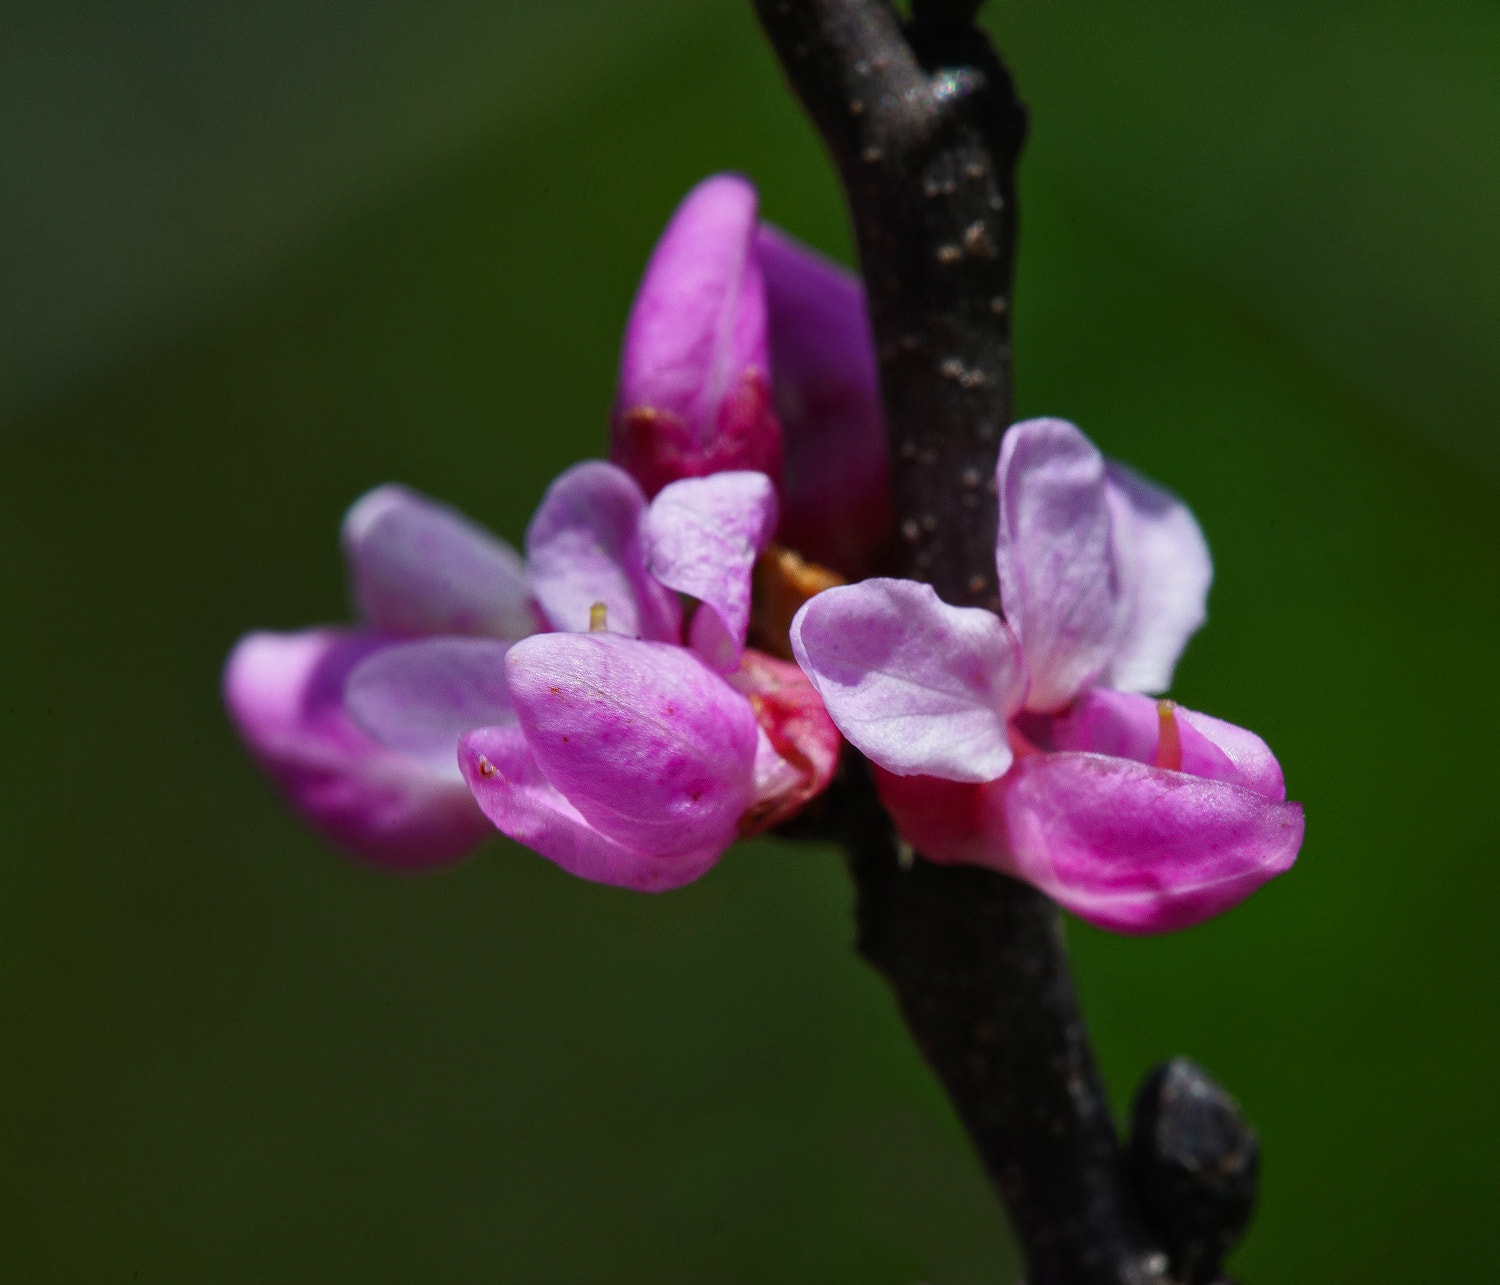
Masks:
[[[717,847],[663,859],[600,834],[542,775],[516,726],[480,727],[465,735],[459,768],[474,801],[501,834],[579,879],[664,892],[692,883],[718,861]]]

